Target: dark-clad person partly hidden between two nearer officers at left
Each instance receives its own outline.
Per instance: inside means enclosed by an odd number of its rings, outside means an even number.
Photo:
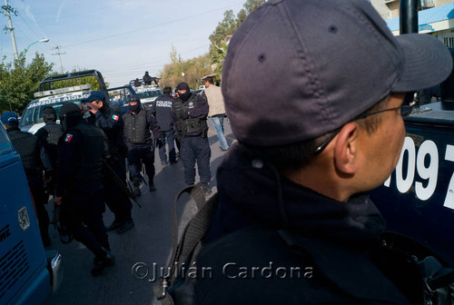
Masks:
[[[54,177],[57,162],[57,144],[58,140],[64,133],[61,124],[56,123],[56,113],[54,107],[48,106],[43,109],[43,119],[45,125],[38,129],[35,135],[38,140],[44,145],[45,150],[49,154],[52,162],[52,176]],[[46,183],[47,192],[54,194],[54,179]]]

